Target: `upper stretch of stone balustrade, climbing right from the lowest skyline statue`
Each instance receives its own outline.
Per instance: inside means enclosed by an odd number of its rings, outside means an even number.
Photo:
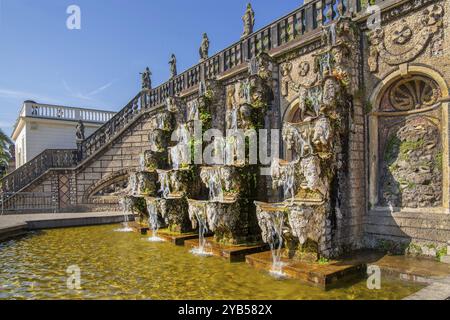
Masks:
[[[315,0],[310,1],[275,22],[240,39],[231,46],[214,54],[169,81],[152,89],[151,106],[163,103],[166,94],[179,94],[198,85],[201,79],[211,79],[239,64],[256,57],[259,53],[270,51],[306,33],[315,31],[324,24],[339,18],[338,5],[343,4],[343,14],[350,10],[359,12],[364,0]],[[382,2],[382,0],[378,0]],[[331,20],[326,18],[331,14]],[[166,93],[166,94],[164,94]]]

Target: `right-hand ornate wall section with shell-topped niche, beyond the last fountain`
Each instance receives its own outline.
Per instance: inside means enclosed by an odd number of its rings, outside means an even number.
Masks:
[[[405,2],[364,34],[369,247],[435,255],[450,238],[448,11]]]

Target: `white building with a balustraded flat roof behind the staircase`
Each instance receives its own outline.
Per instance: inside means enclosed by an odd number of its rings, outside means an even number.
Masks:
[[[11,135],[16,148],[16,167],[46,149],[76,149],[76,126],[82,120],[86,138],[115,112],[72,108],[25,101]]]

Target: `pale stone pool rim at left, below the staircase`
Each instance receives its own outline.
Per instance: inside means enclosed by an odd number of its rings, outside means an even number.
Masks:
[[[134,216],[129,216],[133,220]],[[118,212],[45,213],[0,216],[0,241],[21,236],[31,230],[82,227],[121,223],[125,220]]]

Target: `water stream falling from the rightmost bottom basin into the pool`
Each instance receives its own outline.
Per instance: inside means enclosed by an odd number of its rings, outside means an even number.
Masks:
[[[281,261],[281,252],[283,248],[283,226],[284,213],[276,212],[271,226],[270,235],[270,251],[272,253],[272,269],[270,273],[276,277],[284,277],[283,267],[284,263]]]

